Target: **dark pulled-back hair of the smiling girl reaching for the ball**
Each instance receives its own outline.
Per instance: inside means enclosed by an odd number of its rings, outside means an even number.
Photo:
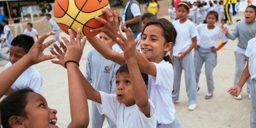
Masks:
[[[175,46],[176,37],[177,37],[176,29],[172,25],[172,23],[169,20],[166,20],[164,18],[160,18],[160,19],[150,19],[150,20],[148,20],[148,23],[146,23],[145,28],[147,26],[150,26],[150,25],[156,25],[156,26],[159,26],[163,29],[162,35],[165,38],[166,43],[172,42],[172,48],[171,48],[171,50],[172,50],[173,46]],[[145,28],[143,29],[142,34],[144,33]],[[173,65],[172,58],[169,55],[164,56],[163,59],[165,61],[169,61],[169,63]]]

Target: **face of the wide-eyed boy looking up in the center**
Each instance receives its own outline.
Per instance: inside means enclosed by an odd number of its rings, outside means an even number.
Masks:
[[[117,73],[115,87],[116,97],[119,103],[123,103],[127,107],[135,104],[131,84],[132,83],[129,73]]]

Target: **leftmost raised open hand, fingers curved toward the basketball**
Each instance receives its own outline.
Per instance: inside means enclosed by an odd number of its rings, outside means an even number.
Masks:
[[[56,39],[52,39],[48,41],[47,43],[43,44],[44,40],[49,37],[50,35],[55,35],[55,32],[49,32],[41,38],[35,44],[31,47],[29,52],[26,54],[26,56],[29,58],[31,65],[37,64],[42,61],[50,60],[53,58],[57,58],[56,55],[44,55],[43,51],[47,47],[49,47],[52,43],[56,41]]]

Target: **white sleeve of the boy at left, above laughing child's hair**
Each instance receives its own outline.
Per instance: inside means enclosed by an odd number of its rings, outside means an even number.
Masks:
[[[35,93],[41,94],[42,84],[43,79],[41,77],[32,77],[29,82],[29,88],[35,91]]]

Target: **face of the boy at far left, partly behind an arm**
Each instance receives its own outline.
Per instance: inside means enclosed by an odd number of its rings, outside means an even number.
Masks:
[[[9,59],[12,64],[15,64],[24,55],[26,55],[26,52],[22,47],[11,46]]]

